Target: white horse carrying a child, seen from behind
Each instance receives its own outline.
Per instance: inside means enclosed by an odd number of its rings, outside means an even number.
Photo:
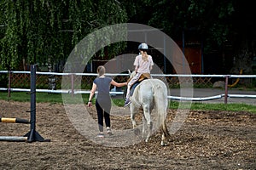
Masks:
[[[130,77],[133,77],[135,72],[133,71],[130,74]],[[168,129],[166,127],[166,115],[167,115],[167,88],[166,84],[159,79],[146,79],[143,82],[140,82],[137,87],[134,89],[134,92],[131,96],[131,122],[132,126],[135,129],[137,127],[135,121],[135,115],[137,114],[137,109],[143,108],[143,134],[145,129],[148,129],[148,135],[145,139],[148,142],[150,135],[152,134],[153,122],[151,119],[151,112],[155,109],[157,114],[158,124],[160,126],[161,136],[161,145],[167,145],[166,137],[170,136]]]

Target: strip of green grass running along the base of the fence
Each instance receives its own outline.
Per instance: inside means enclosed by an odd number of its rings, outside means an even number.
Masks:
[[[30,102],[30,95],[26,94],[26,92],[12,92],[8,96],[7,92],[0,92],[0,99],[3,100],[13,100],[20,102]],[[63,94],[65,103],[69,104],[81,104],[82,102],[85,104],[88,102],[89,94],[76,94],[72,96],[72,94]],[[49,94],[49,93],[37,93],[37,102],[45,102],[52,104],[62,104],[63,99],[61,94]],[[81,100],[82,99],[82,100]],[[124,105],[124,99],[112,99],[113,105],[117,105],[122,107]],[[95,105],[95,99],[92,100],[93,105]],[[178,109],[179,102],[171,101],[169,102],[170,109]],[[204,104],[204,103],[192,103],[190,110],[193,111],[247,111],[251,113],[256,113],[255,105],[247,105],[247,104]]]

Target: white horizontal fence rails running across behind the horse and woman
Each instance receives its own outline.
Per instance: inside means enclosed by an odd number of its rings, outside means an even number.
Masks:
[[[0,71],[0,74],[8,74],[8,73],[19,73],[19,74],[30,74],[30,71]],[[58,73],[58,72],[36,72],[37,75],[58,75],[58,76],[97,76],[96,73]],[[116,76],[129,76],[128,74],[106,74],[106,76],[116,77]],[[256,75],[182,75],[182,74],[152,74],[152,77],[223,77],[225,79],[225,89],[224,94],[218,94],[214,96],[208,97],[180,97],[180,96],[168,96],[168,99],[174,100],[182,100],[182,101],[205,101],[212,99],[221,99],[224,98],[224,103],[227,103],[228,98],[250,98],[256,99],[256,95],[254,94],[229,94],[228,91],[228,80],[229,78],[256,78]],[[73,83],[73,82],[72,82]],[[73,87],[73,86],[72,86]],[[9,92],[30,92],[30,89],[26,88],[1,88],[0,91],[9,91]],[[36,89],[37,92],[42,93],[54,93],[54,94],[90,94],[90,90],[62,90],[62,89]],[[124,94],[123,92],[114,92],[111,91],[110,94]]]

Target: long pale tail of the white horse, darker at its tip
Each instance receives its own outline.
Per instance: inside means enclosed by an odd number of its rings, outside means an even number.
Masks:
[[[167,88],[164,82],[154,85],[154,105],[158,114],[158,123],[160,131],[165,133],[166,137],[170,136],[166,126],[166,116],[168,108]]]

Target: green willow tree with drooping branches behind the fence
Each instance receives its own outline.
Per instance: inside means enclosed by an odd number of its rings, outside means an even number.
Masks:
[[[13,70],[23,64],[67,59],[75,45],[91,31],[126,21],[115,0],[14,0],[0,3],[0,62]],[[117,54],[124,43],[108,47]],[[103,49],[102,49],[103,50]]]

